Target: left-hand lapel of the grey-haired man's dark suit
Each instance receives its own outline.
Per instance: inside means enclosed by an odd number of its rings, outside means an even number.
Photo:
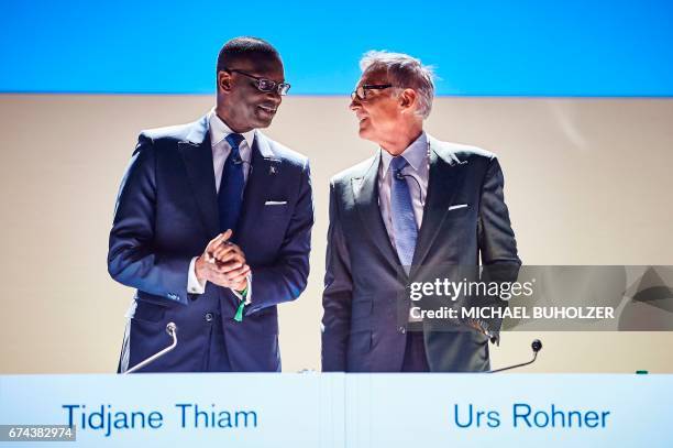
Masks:
[[[378,206],[379,163],[380,152],[374,157],[363,177],[354,177],[351,179],[353,198],[357,214],[362,220],[362,227],[364,227],[372,241],[374,241],[374,245],[378,248],[386,260],[390,261],[390,264],[399,269],[399,259],[390,243],[390,238],[388,237],[388,232],[386,231],[386,227],[380,216],[380,207]],[[399,269],[399,271],[404,272],[401,269]]]

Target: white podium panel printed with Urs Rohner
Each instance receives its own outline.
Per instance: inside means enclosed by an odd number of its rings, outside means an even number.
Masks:
[[[673,375],[347,375],[346,445],[673,447]]]

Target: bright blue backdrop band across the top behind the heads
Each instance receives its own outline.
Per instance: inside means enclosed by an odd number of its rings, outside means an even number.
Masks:
[[[413,9],[410,9],[410,6]],[[367,50],[434,65],[439,95],[673,96],[673,2],[2,1],[0,92],[210,94],[257,35],[291,94],[347,95]]]

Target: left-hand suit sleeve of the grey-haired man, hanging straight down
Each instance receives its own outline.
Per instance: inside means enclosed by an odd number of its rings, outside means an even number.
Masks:
[[[345,371],[351,328],[353,280],[351,261],[339,218],[334,185],[330,185],[330,226],[322,293],[322,371]]]

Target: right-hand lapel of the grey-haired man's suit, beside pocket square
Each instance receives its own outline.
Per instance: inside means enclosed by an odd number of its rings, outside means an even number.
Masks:
[[[428,179],[428,197],[423,208],[423,221],[418,234],[412,265],[418,269],[428,256],[428,252],[442,227],[449,206],[461,185],[464,171],[461,162],[441,142],[428,135],[430,142],[430,174]],[[416,270],[415,270],[416,271]]]

